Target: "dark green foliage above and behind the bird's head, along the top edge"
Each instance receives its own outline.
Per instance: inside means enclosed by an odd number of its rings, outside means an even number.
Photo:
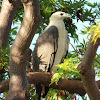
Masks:
[[[76,40],[78,39],[78,35],[76,34],[77,27],[73,23],[73,20],[81,20],[82,22],[89,21],[93,24],[97,15],[100,14],[100,5],[97,3],[91,4],[86,0],[49,0],[49,3],[47,2],[44,2],[43,0],[40,1],[43,23],[46,25],[48,24],[48,19],[53,12],[65,11],[66,13],[69,13],[72,20],[65,21],[66,29],[70,36]]]

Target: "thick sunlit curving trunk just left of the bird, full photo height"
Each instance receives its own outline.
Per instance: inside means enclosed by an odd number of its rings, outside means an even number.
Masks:
[[[26,64],[29,46],[41,23],[39,0],[22,0],[24,18],[20,30],[10,49],[10,84],[6,100],[26,100],[28,81]]]

